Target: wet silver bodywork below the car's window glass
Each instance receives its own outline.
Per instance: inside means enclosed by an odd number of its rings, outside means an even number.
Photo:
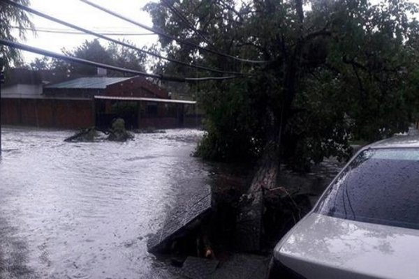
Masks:
[[[311,213],[274,257],[307,279],[419,278],[419,230]]]

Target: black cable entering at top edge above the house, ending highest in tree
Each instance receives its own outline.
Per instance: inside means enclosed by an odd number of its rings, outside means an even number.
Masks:
[[[113,15],[114,17],[118,17],[121,20],[125,20],[126,22],[130,22],[131,24],[137,25],[138,27],[141,27],[141,28],[146,29],[148,31],[151,31],[153,33],[159,34],[162,37],[168,38],[170,40],[175,40],[178,43],[182,43],[184,45],[190,45],[191,47],[196,47],[198,50],[202,50],[202,51],[205,51],[205,52],[210,52],[212,54],[216,54],[216,55],[219,55],[219,56],[223,56],[223,57],[226,57],[226,58],[229,58],[229,59],[234,59],[234,60],[245,62],[245,63],[269,63],[270,62],[270,61],[242,59],[242,58],[239,58],[239,57],[232,56],[230,54],[225,54],[225,53],[222,53],[222,52],[218,52],[216,50],[211,50],[207,47],[201,47],[200,45],[197,45],[196,43],[191,43],[187,40],[184,40],[184,39],[181,39],[181,38],[176,38],[174,36],[163,33],[162,31],[156,30],[152,27],[147,27],[147,25],[141,24],[140,22],[136,22],[135,20],[131,20],[128,17],[124,17],[124,15],[119,15],[118,13],[115,13],[112,10],[108,10],[107,8],[103,8],[103,6],[100,6],[96,3],[92,3],[91,1],[88,1],[88,0],[80,0],[80,1],[82,1],[83,3],[87,3],[87,5],[92,6],[94,8],[97,8],[98,10],[102,10],[105,13]]]

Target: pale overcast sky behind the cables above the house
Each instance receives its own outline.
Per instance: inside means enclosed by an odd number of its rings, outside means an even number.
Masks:
[[[112,11],[120,13],[135,21],[141,22],[149,27],[152,27],[152,19],[148,13],[142,11],[142,8],[152,0],[91,0],[101,6],[108,8]],[[150,33],[149,31],[136,27],[133,24],[119,20],[112,15],[97,10],[79,0],[31,0],[31,8],[52,15],[66,22],[71,22],[80,27],[91,29],[92,31],[101,32],[115,32],[115,33]],[[47,30],[65,30],[71,31],[68,27],[45,20],[36,15],[31,16],[32,22],[35,24],[36,29]],[[74,30],[73,30],[74,31]],[[112,38],[122,39],[126,38],[133,41],[135,45],[152,45],[156,43],[157,36],[111,36]],[[40,47],[45,50],[53,52],[61,52],[65,47],[71,50],[78,45],[81,45],[84,40],[91,40],[94,36],[85,36],[79,34],[60,34],[60,33],[44,33],[37,32],[33,36],[31,31],[27,32],[27,45]],[[106,44],[106,41],[102,41]],[[29,52],[22,52],[24,60],[29,62],[35,57],[41,57],[37,54]]]

